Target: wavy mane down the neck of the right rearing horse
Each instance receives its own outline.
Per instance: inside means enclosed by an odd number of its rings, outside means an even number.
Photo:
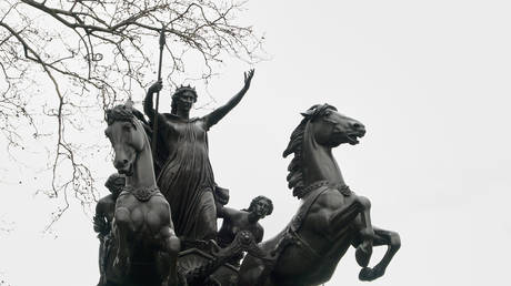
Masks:
[[[288,165],[288,187],[293,190],[293,196],[302,198],[302,190],[305,187],[303,183],[303,160],[302,160],[302,149],[303,149],[303,137],[305,134],[307,123],[314,121],[315,119],[322,116],[327,110],[337,109],[327,103],[312,105],[304,113],[302,121],[291,133],[288,147],[282,153],[283,157],[289,156],[291,153],[294,153],[294,157],[291,160],[291,163]]]

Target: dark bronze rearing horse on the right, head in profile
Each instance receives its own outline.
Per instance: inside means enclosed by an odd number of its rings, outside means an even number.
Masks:
[[[302,201],[291,223],[263,242],[268,257],[248,255],[241,265],[239,285],[318,285],[328,282],[349,246],[357,247],[362,267],[359,278],[382,276],[400,247],[398,233],[371,225],[370,202],[345,185],[331,149],[359,143],[364,126],[337,109],[314,105],[293,131],[283,153],[294,153],[288,171],[289,187]],[[372,246],[388,245],[383,258],[368,267]]]

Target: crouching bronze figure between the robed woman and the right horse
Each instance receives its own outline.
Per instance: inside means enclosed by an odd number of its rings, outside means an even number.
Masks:
[[[236,235],[241,231],[250,232],[255,243],[260,243],[264,235],[264,229],[259,219],[264,218],[273,212],[273,204],[265,196],[258,196],[252,200],[248,210],[234,210],[231,207],[222,207],[219,210],[219,217],[223,218],[222,227],[218,232],[217,242],[220,247],[229,246]],[[239,266],[239,261],[243,256],[237,256],[230,263]]]

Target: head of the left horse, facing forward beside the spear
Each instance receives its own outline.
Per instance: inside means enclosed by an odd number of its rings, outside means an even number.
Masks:
[[[113,165],[120,174],[131,176],[137,154],[149,147],[143,126],[131,104],[121,104],[108,110],[107,123],[104,134],[116,153]]]

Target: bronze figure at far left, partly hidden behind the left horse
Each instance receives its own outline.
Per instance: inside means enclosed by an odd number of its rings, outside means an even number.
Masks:
[[[98,201],[96,205],[96,215],[93,218],[94,232],[98,233],[99,238],[99,272],[100,282],[98,285],[102,286],[107,283],[106,266],[108,264],[108,254],[110,253],[112,244],[112,219],[116,210],[116,201],[122,188],[124,187],[126,178],[118,173],[111,174],[104,186],[111,194],[106,195]]]

